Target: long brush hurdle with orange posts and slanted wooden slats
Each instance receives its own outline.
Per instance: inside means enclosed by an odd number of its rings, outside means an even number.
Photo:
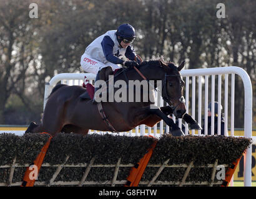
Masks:
[[[225,187],[249,145],[249,139],[225,136],[164,135],[155,139],[112,134],[57,134],[52,138],[45,134],[2,134],[0,186]],[[237,149],[234,155],[230,155],[230,146]],[[209,151],[212,148],[216,150]],[[37,180],[29,177],[27,169],[35,157],[33,164],[41,168]],[[227,170],[225,183],[217,175],[219,164]]]

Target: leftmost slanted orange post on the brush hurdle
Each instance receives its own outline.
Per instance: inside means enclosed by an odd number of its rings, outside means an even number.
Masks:
[[[41,134],[48,134],[48,133],[47,132],[42,132]],[[31,165],[36,166],[37,175],[39,174],[39,170],[41,169],[42,162],[44,162],[44,156],[46,155],[46,151],[47,151],[47,149],[50,145],[51,139],[52,139],[52,136],[50,135],[48,141],[42,147],[41,152],[37,155],[36,160],[34,160],[34,164],[31,164]],[[26,170],[26,172],[24,174],[24,177],[23,177],[21,187],[33,187],[34,186],[34,183],[36,181],[36,177],[33,177],[32,179],[31,179],[31,177],[29,177],[31,172],[33,172],[33,169],[32,170],[29,169],[31,165],[29,165],[29,167],[27,167],[27,170]]]

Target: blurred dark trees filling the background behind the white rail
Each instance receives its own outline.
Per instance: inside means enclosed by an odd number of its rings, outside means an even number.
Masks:
[[[29,18],[29,4],[38,18]],[[239,66],[255,96],[255,1],[222,1],[225,18],[210,0],[1,0],[0,124],[40,121],[44,83],[56,73],[82,72],[88,44],[129,22],[143,59],[161,58],[185,68]],[[243,83],[235,81],[235,127],[244,125]],[[255,121],[254,100],[254,121]],[[254,124],[255,128],[255,124]]]

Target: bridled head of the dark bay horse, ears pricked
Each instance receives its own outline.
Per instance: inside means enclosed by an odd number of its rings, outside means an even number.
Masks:
[[[185,99],[182,95],[185,83],[180,75],[180,70],[184,64],[185,61],[176,67],[174,63],[160,61],[161,67],[165,70],[164,82],[162,82],[162,98],[174,109],[174,115],[177,118],[182,118],[186,111]]]

